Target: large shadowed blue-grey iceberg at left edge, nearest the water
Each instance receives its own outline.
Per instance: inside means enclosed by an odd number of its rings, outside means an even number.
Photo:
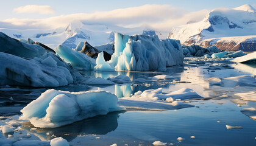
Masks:
[[[82,77],[54,54],[26,60],[0,52],[0,85],[66,86]]]

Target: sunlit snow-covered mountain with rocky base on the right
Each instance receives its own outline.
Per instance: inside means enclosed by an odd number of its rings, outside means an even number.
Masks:
[[[202,21],[175,27],[168,38],[180,40],[185,46],[216,45],[224,50],[256,50],[256,10],[251,5],[234,9],[219,8]]]

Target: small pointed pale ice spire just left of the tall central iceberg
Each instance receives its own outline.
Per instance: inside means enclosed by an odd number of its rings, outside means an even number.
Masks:
[[[94,71],[115,71],[115,67],[111,64],[105,61],[104,59],[104,52],[101,52],[98,54],[98,57],[96,58],[96,66],[94,66]]]

